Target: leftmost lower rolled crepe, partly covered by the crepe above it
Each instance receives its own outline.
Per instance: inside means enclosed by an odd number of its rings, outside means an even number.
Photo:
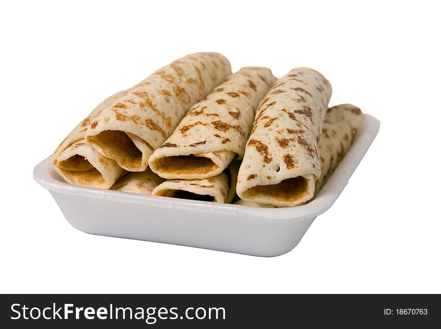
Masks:
[[[100,103],[55,150],[52,165],[67,183],[108,189],[123,174],[124,170],[115,161],[87,144],[84,134],[90,122],[125,92],[118,92]]]

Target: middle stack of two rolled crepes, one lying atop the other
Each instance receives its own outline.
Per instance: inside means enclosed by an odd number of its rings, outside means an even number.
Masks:
[[[242,68],[195,104],[148,161],[167,178],[152,194],[231,203],[257,106],[275,80],[270,69]]]

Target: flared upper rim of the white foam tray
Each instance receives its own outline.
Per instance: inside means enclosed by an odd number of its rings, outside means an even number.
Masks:
[[[206,201],[184,200],[169,197],[158,197],[129,192],[102,190],[97,188],[70,185],[52,168],[52,155],[41,161],[34,168],[34,179],[51,193],[69,194],[95,199],[112,200],[121,203],[137,203],[153,207],[194,210],[204,213],[259,217],[268,220],[300,220],[316,217],[327,211],[343,191],[352,173],[358,167],[371,143],[375,139],[380,122],[373,116],[363,114],[363,120],[354,142],[337,166],[334,173],[322,187],[313,201],[290,208],[257,208],[236,204],[213,203]]]

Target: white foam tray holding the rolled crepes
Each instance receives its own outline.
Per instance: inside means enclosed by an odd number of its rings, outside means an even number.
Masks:
[[[86,233],[179,244],[255,256],[292,250],[314,219],[328,210],[348,183],[378,133],[380,122],[363,114],[349,152],[310,203],[255,208],[157,197],[69,185],[50,157],[34,169],[69,223]]]

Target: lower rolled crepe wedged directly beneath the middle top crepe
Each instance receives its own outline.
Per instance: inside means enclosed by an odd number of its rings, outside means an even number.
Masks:
[[[234,161],[227,170],[210,178],[166,180],[153,190],[152,195],[231,203],[236,195],[239,165],[239,161]]]

